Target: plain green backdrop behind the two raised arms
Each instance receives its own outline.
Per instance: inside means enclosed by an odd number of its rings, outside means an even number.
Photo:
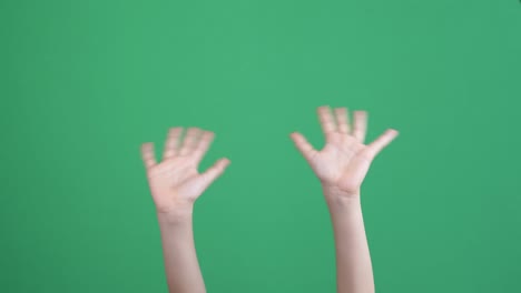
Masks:
[[[166,292],[139,144],[216,132],[197,202],[208,292],[334,292],[288,138],[364,109],[379,292],[519,292],[519,1],[1,1],[0,292]]]

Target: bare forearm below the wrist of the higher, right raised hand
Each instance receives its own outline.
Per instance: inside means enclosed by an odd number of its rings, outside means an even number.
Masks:
[[[360,195],[327,199],[336,250],[338,293],[373,293],[374,280]]]

